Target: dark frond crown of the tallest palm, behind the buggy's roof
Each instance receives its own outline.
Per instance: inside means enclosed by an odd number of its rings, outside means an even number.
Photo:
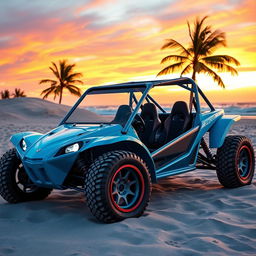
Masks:
[[[226,46],[225,33],[215,30],[211,26],[205,26],[207,16],[201,20],[197,18],[194,22],[194,29],[191,29],[187,22],[190,45],[186,48],[174,39],[167,39],[162,46],[163,49],[178,49],[179,54],[169,55],[162,59],[162,63],[174,61],[173,64],[161,70],[157,76],[166,75],[182,69],[180,76],[192,72],[192,79],[196,80],[197,73],[205,73],[213,78],[219,86],[225,88],[221,77],[211,68],[217,71],[230,72],[237,75],[237,70],[230,64],[240,65],[239,61],[228,55],[212,55],[221,46]]]

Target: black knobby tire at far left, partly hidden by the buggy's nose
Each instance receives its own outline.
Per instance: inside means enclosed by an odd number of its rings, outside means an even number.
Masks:
[[[10,149],[0,158],[0,195],[9,203],[19,203],[33,200],[43,200],[52,191],[49,188],[41,188],[30,181],[29,191],[24,191],[16,181],[17,172],[23,179],[29,180],[22,163],[17,157],[16,150]]]

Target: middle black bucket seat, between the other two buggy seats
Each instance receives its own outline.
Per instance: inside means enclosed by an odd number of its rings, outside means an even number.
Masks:
[[[142,107],[141,118],[145,122],[145,128],[139,134],[140,139],[148,148],[154,148],[155,133],[161,124],[155,104],[145,103]]]

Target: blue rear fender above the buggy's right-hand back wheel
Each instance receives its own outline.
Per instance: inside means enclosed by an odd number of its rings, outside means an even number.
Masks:
[[[209,130],[210,148],[219,148],[223,145],[231,125],[239,121],[241,116],[224,115]]]

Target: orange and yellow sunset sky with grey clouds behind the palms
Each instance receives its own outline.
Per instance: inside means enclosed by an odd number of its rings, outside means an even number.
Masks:
[[[0,90],[22,88],[39,97],[53,78],[51,61],[76,63],[85,90],[92,85],[154,79],[164,67],[167,38],[189,42],[186,22],[209,15],[226,32],[228,47],[216,54],[237,58],[239,76],[221,74],[227,89],[206,76],[198,83],[214,102],[256,101],[255,0],[9,0],[0,3]],[[178,77],[172,74],[170,78]],[[51,98],[49,98],[51,100]],[[63,103],[76,98],[65,95]]]

